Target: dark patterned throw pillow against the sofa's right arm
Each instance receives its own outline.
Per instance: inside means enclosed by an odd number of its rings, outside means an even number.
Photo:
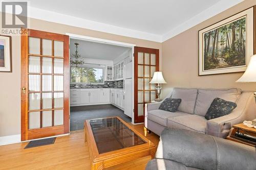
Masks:
[[[204,117],[209,120],[212,118],[225,116],[231,113],[231,111],[236,107],[236,103],[228,102],[220,98],[215,98]]]

